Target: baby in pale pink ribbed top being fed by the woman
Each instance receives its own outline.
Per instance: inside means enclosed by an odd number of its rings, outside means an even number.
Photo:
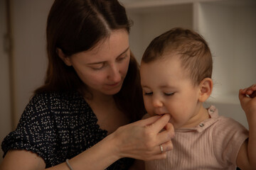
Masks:
[[[154,38],[141,63],[144,104],[149,115],[169,114],[173,150],[145,162],[157,169],[256,169],[256,85],[240,89],[249,131],[231,118],[204,108],[213,90],[213,60],[206,40],[193,30],[173,28]],[[161,144],[159,152],[165,152]]]

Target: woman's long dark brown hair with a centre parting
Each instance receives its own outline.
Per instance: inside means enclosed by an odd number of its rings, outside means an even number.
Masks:
[[[66,56],[90,50],[110,36],[112,30],[129,33],[131,21],[117,0],[55,0],[48,15],[46,37],[48,69],[45,84],[35,93],[51,91],[85,91],[73,67],[58,57],[57,48]],[[127,77],[122,89],[114,95],[117,106],[134,121],[144,114],[139,65],[131,52]]]

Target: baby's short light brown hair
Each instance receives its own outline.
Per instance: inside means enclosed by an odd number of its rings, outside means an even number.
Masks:
[[[168,54],[168,55],[166,55]],[[178,56],[181,67],[196,86],[205,78],[211,78],[213,60],[208,43],[193,30],[172,28],[154,38],[146,48],[142,62],[149,63],[164,59],[164,56]]]

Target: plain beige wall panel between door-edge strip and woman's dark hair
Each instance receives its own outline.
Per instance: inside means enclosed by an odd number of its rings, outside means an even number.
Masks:
[[[46,20],[53,1],[12,1],[15,120],[18,120],[33,90],[43,84],[46,73]]]

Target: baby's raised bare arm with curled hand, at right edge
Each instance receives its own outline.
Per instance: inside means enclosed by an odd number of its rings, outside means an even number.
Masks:
[[[249,125],[249,139],[238,152],[237,164],[240,169],[256,169],[256,84],[239,91],[242,109]]]

